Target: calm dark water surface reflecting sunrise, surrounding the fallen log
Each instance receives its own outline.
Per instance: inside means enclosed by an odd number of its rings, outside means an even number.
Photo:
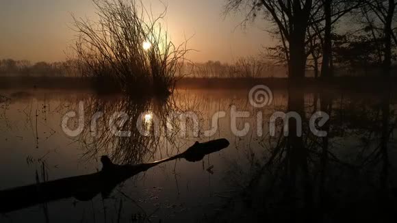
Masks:
[[[395,211],[393,96],[275,90],[272,103],[255,108],[248,92],[179,89],[169,99],[128,99],[88,91],[0,91],[11,98],[0,104],[1,190],[98,172],[102,155],[114,163],[133,164],[177,155],[196,141],[226,138],[231,143],[202,161],[179,159],[153,167],[121,183],[109,196],[34,205],[4,213],[0,221],[238,222],[264,216],[307,218],[305,211],[316,210],[311,217],[332,222],[346,213],[351,219],[365,219],[379,213],[388,218]],[[84,129],[73,137],[62,129],[62,120],[68,112],[78,113],[79,105],[84,106]],[[248,112],[235,124],[238,130],[249,125],[246,132],[233,130],[233,110]],[[309,130],[311,115],[320,110],[331,115],[322,127],[327,137]],[[291,111],[303,120],[302,137],[291,132],[285,137],[279,121],[270,137],[270,116]],[[91,120],[97,112],[103,116],[93,131]],[[115,112],[128,116],[118,130],[130,131],[130,137],[112,133],[109,121]],[[225,117],[217,112],[225,112]],[[180,114],[188,115],[185,122]],[[214,115],[218,128],[209,134]],[[137,120],[149,135],[138,131]],[[77,126],[78,119],[71,118],[68,128]],[[293,133],[293,126],[290,129]],[[371,211],[367,214],[366,209]]]

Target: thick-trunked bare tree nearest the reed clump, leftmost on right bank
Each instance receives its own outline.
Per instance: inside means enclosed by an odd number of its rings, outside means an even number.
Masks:
[[[248,9],[247,21],[263,12],[264,18],[279,29],[285,47],[290,79],[305,77],[307,62],[306,34],[313,8],[319,3],[312,0],[227,0],[226,12]]]

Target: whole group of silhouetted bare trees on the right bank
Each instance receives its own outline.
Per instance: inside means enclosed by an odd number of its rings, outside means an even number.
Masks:
[[[351,42],[346,43],[350,44],[350,47],[360,44],[366,48],[362,49],[363,51],[374,49],[376,44],[377,51],[371,53],[378,54],[381,62],[376,63],[376,66],[388,77],[392,64],[396,62],[393,55],[397,44],[396,5],[394,0],[227,0],[225,11],[243,11],[246,20],[242,24],[259,17],[274,25],[274,28],[268,31],[274,34],[279,44],[266,48],[265,55],[272,61],[286,64],[290,78],[305,77],[307,68],[314,70],[315,77],[332,77],[334,66],[338,65],[335,62],[341,62],[335,61],[335,57],[340,59],[354,56],[352,53],[359,53],[353,52],[355,49],[348,49],[347,52],[341,48],[334,49],[336,41],[340,41],[341,38],[350,40]],[[337,26],[340,21],[348,23],[348,32]],[[334,38],[335,36],[339,38]],[[361,55],[364,53],[361,52]],[[361,63],[373,64],[371,55],[361,59],[366,60]]]

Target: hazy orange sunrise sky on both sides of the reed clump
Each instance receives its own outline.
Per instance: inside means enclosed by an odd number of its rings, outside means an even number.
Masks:
[[[168,11],[164,24],[179,44],[192,37],[188,48],[196,51],[194,62],[233,62],[239,57],[258,55],[262,46],[272,44],[264,31],[268,25],[257,21],[245,29],[239,24],[244,14],[225,16],[225,0],[143,0],[153,13]],[[0,59],[55,62],[71,54],[75,39],[72,14],[95,18],[91,0],[1,0]]]

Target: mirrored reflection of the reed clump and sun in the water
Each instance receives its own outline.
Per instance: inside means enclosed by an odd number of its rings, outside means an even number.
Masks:
[[[109,155],[117,163],[140,163],[153,157],[153,153],[158,146],[165,143],[163,137],[152,135],[146,137],[136,127],[138,118],[144,118],[143,123],[146,130],[153,130],[154,125],[146,121],[142,114],[153,111],[159,116],[166,115],[172,106],[169,101],[157,101],[152,99],[142,99],[142,101],[131,100],[124,96],[117,98],[105,99],[91,97],[84,101],[86,128],[81,133],[79,140],[86,147],[84,157],[92,159],[99,155]],[[92,123],[95,114],[101,113],[101,116]],[[122,126],[118,125],[121,131],[129,131],[128,137],[116,137],[114,131],[110,128],[110,120],[115,113],[123,112],[128,118]],[[120,120],[115,120],[120,121]],[[94,129],[88,128],[96,124]],[[119,124],[119,123],[116,123]],[[172,139],[170,139],[172,141]]]

